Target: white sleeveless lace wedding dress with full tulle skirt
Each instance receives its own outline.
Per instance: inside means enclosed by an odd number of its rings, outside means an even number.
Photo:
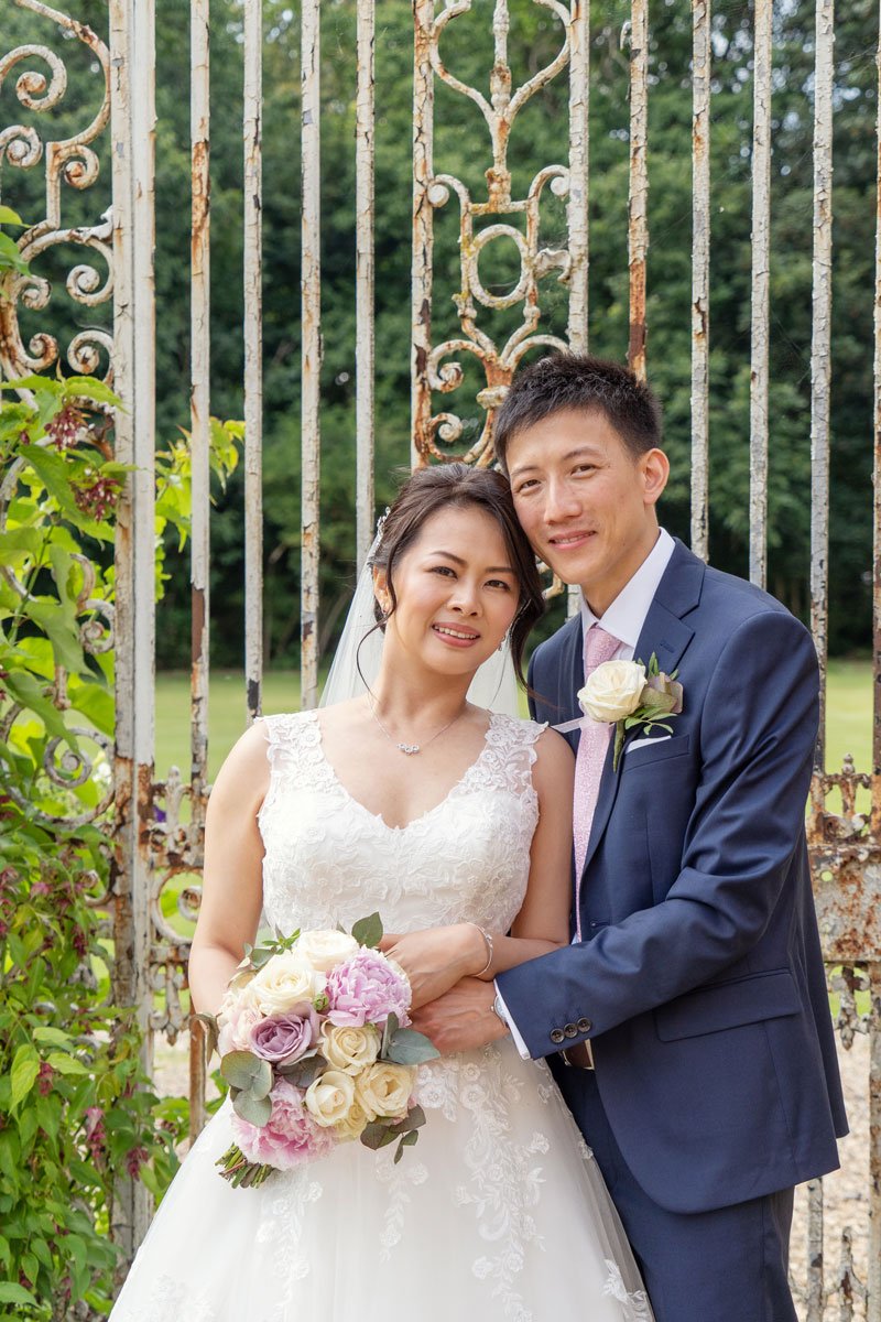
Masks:
[[[265,916],[388,931],[470,919],[505,931],[526,891],[543,727],[493,715],[477,761],[404,828],[357,802],[314,713],[265,719]],[[427,1124],[394,1147],[343,1144],[259,1188],[215,1169],[229,1100],[172,1183],[112,1322],[650,1322],[600,1171],[543,1062],[512,1042],[424,1066]]]

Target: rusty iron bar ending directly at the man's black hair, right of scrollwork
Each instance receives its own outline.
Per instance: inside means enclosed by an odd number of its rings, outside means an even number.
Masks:
[[[627,364],[646,377],[646,258],[649,253],[649,0],[630,7],[630,197],[627,266],[630,270],[630,344]]]

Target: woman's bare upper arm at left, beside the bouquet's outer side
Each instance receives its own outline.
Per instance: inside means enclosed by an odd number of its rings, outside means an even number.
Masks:
[[[193,1009],[217,1014],[227,984],[254,943],[263,904],[263,841],[258,812],[269,783],[263,722],[221,767],[205,820],[202,904],[190,949]]]

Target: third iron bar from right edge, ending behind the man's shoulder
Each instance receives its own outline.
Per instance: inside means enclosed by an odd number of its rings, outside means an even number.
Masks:
[[[756,0],[753,40],[753,308],[749,394],[749,576],[767,575],[767,341],[771,260],[771,12]]]

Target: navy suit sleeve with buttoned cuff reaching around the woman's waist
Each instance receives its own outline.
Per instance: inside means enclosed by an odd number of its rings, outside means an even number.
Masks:
[[[818,697],[814,644],[793,616],[761,612],[733,632],[692,735],[700,777],[667,896],[592,941],[498,977],[534,1058],[560,1050],[553,1029],[589,1022],[567,1046],[597,1036],[719,976],[757,944],[803,838]],[[663,777],[656,792],[666,792]]]

